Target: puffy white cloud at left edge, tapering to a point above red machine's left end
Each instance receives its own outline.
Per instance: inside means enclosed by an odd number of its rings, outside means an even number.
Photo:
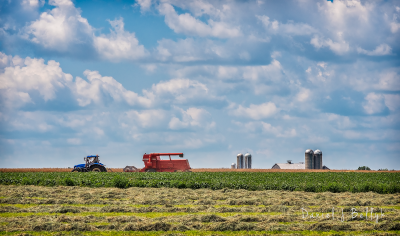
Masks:
[[[112,77],[103,77],[97,71],[84,72],[88,81],[80,77],[73,81],[73,77],[64,73],[60,64],[52,60],[45,64],[43,59],[10,58],[3,55],[1,62],[9,65],[4,69],[4,73],[0,73],[1,96],[9,108],[32,103],[30,93],[34,91],[39,93],[44,101],[54,100],[57,92],[62,89],[70,90],[80,106],[87,106],[92,102],[101,103],[105,96],[110,96],[115,102],[126,102],[129,105],[151,105],[150,99],[126,90]],[[17,65],[14,65],[14,62]],[[23,66],[20,66],[21,63]]]

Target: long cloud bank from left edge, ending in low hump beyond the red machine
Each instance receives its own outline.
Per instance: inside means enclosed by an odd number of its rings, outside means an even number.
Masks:
[[[118,104],[150,108],[173,104],[202,104],[224,106],[222,96],[211,93],[207,86],[196,80],[171,79],[153,84],[143,95],[125,89],[113,77],[102,76],[98,71],[85,70],[86,77],[76,77],[64,73],[60,64],[43,59],[10,57],[0,54],[0,90],[6,107],[19,107],[34,103],[32,94],[38,93],[44,101],[72,99],[81,107],[105,105],[112,101]],[[67,90],[69,98],[58,98],[57,93]]]

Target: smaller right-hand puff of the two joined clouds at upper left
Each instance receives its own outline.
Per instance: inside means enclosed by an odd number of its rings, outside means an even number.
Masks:
[[[108,60],[137,59],[147,55],[143,45],[134,33],[124,30],[123,19],[109,21],[114,30],[109,35],[100,35],[94,38],[94,47],[101,57]]]

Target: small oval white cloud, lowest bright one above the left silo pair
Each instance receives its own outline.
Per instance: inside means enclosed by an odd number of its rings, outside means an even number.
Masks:
[[[260,105],[250,104],[249,107],[239,105],[231,109],[230,113],[235,116],[248,117],[253,120],[261,120],[271,117],[279,112],[279,109],[273,102],[266,102]]]

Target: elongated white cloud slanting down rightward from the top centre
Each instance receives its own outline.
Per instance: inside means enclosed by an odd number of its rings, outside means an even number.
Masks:
[[[165,16],[165,23],[176,33],[217,38],[232,38],[241,35],[239,27],[232,27],[224,22],[209,19],[208,24],[205,24],[189,13],[178,15],[174,7],[168,3],[159,5],[159,11]]]

